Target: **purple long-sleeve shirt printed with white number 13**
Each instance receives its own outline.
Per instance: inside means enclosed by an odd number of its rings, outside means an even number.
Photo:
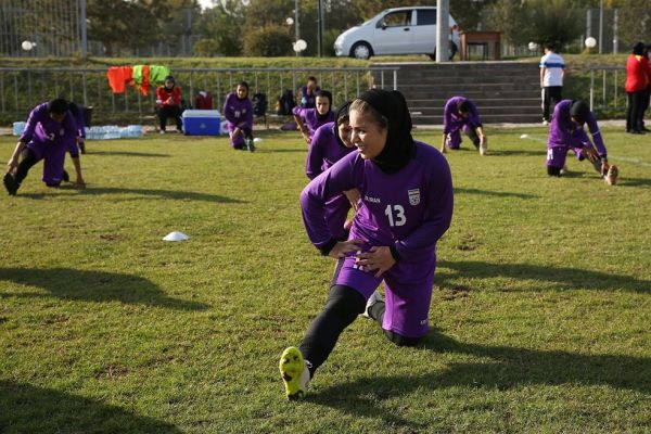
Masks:
[[[361,201],[350,239],[371,246],[394,245],[400,260],[432,260],[454,207],[450,169],[437,150],[416,142],[414,157],[391,175],[353,152],[312,179],[301,193],[301,206],[307,235],[316,247],[333,240],[324,218],[328,199],[353,188],[359,190]]]

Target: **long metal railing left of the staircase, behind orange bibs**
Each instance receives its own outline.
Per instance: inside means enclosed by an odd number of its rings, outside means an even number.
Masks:
[[[396,66],[371,67],[322,67],[322,68],[174,68],[177,84],[183,98],[192,102],[200,91],[213,95],[214,105],[220,110],[226,95],[245,80],[250,85],[250,97],[265,93],[272,113],[276,99],[285,89],[294,93],[310,75],[319,79],[322,89],[333,94],[336,105],[353,99],[361,91],[391,86],[397,89]],[[142,94],[139,89],[127,86],[124,93],[115,94],[108,87],[107,67],[104,68],[17,68],[0,67],[0,119],[24,120],[29,110],[52,98],[62,97],[69,101],[93,107],[93,119],[107,123],[129,119],[133,115],[142,122],[154,111],[155,91],[152,85]],[[373,76],[379,77],[374,79]],[[379,81],[379,82],[376,82]],[[297,95],[298,97],[298,95]],[[124,119],[126,118],[126,119]]]

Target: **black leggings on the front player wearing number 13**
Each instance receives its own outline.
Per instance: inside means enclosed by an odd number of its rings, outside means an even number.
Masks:
[[[359,314],[363,312],[365,308],[365,297],[353,288],[339,284],[330,288],[326,307],[309,326],[299,346],[303,357],[310,362],[308,368],[311,375],[328,359],[340,334],[355,321]],[[384,309],[384,303],[378,302],[369,312],[371,318],[381,326]],[[400,346],[413,345],[420,341],[390,331],[384,331],[384,334],[390,341]]]

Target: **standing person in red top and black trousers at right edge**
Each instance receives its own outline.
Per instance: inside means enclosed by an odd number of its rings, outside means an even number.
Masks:
[[[626,85],[628,106],[626,107],[626,132],[631,135],[644,133],[642,129],[644,118],[644,99],[647,87],[651,79],[649,58],[644,55],[644,43],[637,42],[633,53],[626,61]]]

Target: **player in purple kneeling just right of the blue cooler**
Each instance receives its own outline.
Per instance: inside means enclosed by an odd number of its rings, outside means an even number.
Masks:
[[[255,151],[253,144],[253,103],[248,99],[248,84],[241,81],[235,89],[226,97],[224,102],[224,117],[226,117],[231,146],[235,150]]]

